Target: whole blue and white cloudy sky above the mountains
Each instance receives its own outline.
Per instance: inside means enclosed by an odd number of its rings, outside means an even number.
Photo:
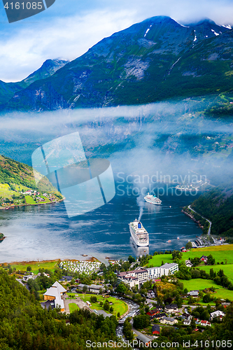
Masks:
[[[20,81],[45,59],[76,59],[95,43],[156,15],[181,24],[210,18],[233,25],[232,0],[56,0],[34,17],[8,23],[0,3],[0,80]]]

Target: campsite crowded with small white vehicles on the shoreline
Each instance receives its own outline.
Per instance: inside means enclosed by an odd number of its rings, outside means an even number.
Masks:
[[[62,261],[59,264],[59,267],[62,269],[66,269],[67,271],[72,272],[85,272],[85,274],[92,274],[92,272],[97,271],[99,269],[99,266],[101,265],[101,262],[99,261],[71,261],[66,260]]]

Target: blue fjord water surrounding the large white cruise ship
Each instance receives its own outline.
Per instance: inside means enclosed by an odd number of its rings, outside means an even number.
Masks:
[[[104,261],[178,249],[201,235],[197,224],[181,212],[194,196],[170,193],[160,198],[161,206],[144,204],[141,222],[150,234],[148,249],[136,248],[130,239],[129,222],[139,217],[132,193],[121,196],[117,192],[103,207],[75,218],[68,218],[62,202],[1,210],[0,232],[6,239],[0,244],[0,262],[81,259],[81,254]]]

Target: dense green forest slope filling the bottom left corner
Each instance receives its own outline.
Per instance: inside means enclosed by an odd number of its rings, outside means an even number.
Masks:
[[[79,350],[85,342],[115,340],[115,316],[74,311],[60,314],[43,309],[33,294],[15,277],[0,269],[0,349],[1,350]],[[69,318],[70,325],[66,325]]]

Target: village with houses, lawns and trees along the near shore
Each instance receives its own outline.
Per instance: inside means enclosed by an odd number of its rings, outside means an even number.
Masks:
[[[231,285],[223,288],[215,282],[224,279],[223,272],[218,274],[214,269],[211,275],[203,274],[202,284],[199,284],[200,279],[193,277],[183,279],[185,274],[193,276],[200,269],[211,269],[215,265],[213,255],[206,253],[192,257],[192,253],[174,251],[173,262],[169,262],[172,257],[168,253],[156,253],[152,258],[143,255],[132,258],[130,255],[128,260],[109,259],[108,265],[97,259],[63,260],[59,261],[55,272],[43,269],[42,263],[38,273],[27,267],[27,272],[17,280],[33,290],[35,283],[45,285],[47,279],[51,281],[50,287],[45,290],[41,287],[38,294],[41,307],[57,308],[67,315],[79,309],[104,317],[114,315],[118,319],[119,335],[127,339],[126,325],[127,328],[130,325],[130,337],[148,344],[164,335],[167,328],[175,332],[188,329],[191,333],[213,328],[222,323],[231,306]],[[182,254],[185,255],[183,260]],[[163,263],[155,266],[153,260]],[[210,282],[210,279],[213,280]]]

